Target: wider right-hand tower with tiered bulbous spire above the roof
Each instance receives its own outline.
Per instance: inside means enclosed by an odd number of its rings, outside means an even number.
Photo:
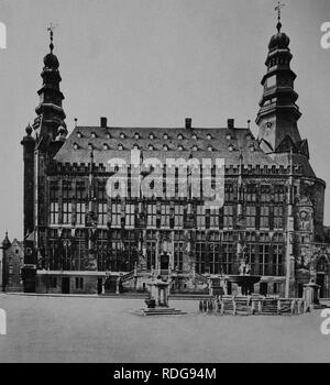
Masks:
[[[280,3],[276,7],[277,33],[268,44],[265,62],[267,73],[261,81],[264,90],[255,122],[260,127],[260,145],[265,153],[289,153],[293,148],[295,153],[308,157],[307,141],[301,141],[297,127],[301,113],[296,105],[298,95],[294,89],[296,74],[290,68],[290,40],[282,32],[282,7]]]

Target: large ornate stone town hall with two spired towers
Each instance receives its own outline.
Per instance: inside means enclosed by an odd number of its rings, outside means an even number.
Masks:
[[[220,279],[233,293],[230,277],[245,262],[261,277],[254,293],[301,296],[314,277],[329,297],[326,184],[297,127],[296,75],[279,21],[268,44],[257,138],[250,122],[238,128],[233,119],[217,129],[195,128],[191,119],[168,129],[113,127],[101,118],[100,125],[76,125],[68,134],[52,31],[51,40],[37,117],[21,142],[26,292],[143,292],[161,274],[172,293],[205,293]],[[142,165],[138,174],[133,155]],[[110,160],[125,162],[127,178]],[[221,178],[217,160],[224,161],[224,204],[212,207],[202,182],[209,177],[215,186]],[[136,190],[133,178],[151,194]]]

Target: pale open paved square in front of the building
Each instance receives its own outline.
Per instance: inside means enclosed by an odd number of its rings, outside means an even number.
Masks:
[[[141,299],[0,295],[0,362],[330,362],[320,311],[301,316],[140,317]]]

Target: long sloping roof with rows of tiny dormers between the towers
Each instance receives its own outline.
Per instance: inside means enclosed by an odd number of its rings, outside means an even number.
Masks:
[[[164,136],[166,134],[167,138]],[[239,164],[240,151],[242,151],[244,164],[279,165],[260,148],[251,130],[246,128],[77,127],[56,154],[55,161],[88,164],[92,148],[94,162],[107,164],[113,157],[129,160],[130,151],[134,145],[142,151],[143,158],[157,157],[162,162],[169,157],[189,158],[193,154],[196,158],[224,158],[227,165],[235,166]]]

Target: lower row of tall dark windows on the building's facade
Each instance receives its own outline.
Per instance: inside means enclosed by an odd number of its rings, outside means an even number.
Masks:
[[[232,239],[223,237],[223,241],[220,241],[219,234],[215,233],[206,241],[205,234],[200,233],[199,235],[193,244],[197,273],[238,274],[238,261],[234,260],[237,244],[232,242]],[[174,267],[178,271],[183,271],[185,254],[185,242],[180,239],[184,239],[184,234],[176,234],[173,255]],[[246,243],[243,248],[244,256],[251,267],[251,274],[283,275],[284,235],[276,234],[272,243],[267,234],[261,234],[258,243],[251,243],[251,239],[254,238],[245,237]],[[151,270],[156,267],[157,241],[147,239],[145,244],[146,265]],[[51,270],[85,270],[88,267],[87,242],[84,239],[76,239],[74,246],[69,240],[64,240],[62,245],[57,240],[51,240],[48,252]],[[97,241],[99,271],[129,272],[134,268],[138,261],[138,242],[133,238],[125,239],[124,242],[116,240],[111,242],[108,242],[108,240]]]

